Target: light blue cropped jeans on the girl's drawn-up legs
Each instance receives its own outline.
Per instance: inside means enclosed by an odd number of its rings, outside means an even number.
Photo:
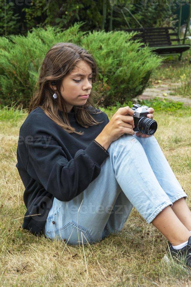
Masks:
[[[71,201],[54,198],[43,233],[69,245],[117,234],[134,206],[151,223],[166,206],[187,197],[154,136],[124,134],[111,143],[98,177]]]

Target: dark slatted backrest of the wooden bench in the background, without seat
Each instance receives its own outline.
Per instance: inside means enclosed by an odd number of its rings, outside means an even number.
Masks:
[[[163,28],[135,28],[135,29],[119,29],[126,32],[137,31],[139,34],[135,35],[133,39],[141,39],[143,43],[149,43],[149,47],[160,47],[172,45],[172,41],[179,43],[178,34],[172,27]],[[169,30],[173,30],[173,33],[169,33]],[[171,39],[170,36],[176,36]]]

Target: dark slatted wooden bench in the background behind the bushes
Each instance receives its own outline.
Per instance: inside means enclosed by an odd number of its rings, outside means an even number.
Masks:
[[[145,45],[148,43],[148,46],[153,49],[154,52],[161,55],[171,55],[171,54],[180,54],[179,60],[182,57],[182,53],[190,49],[190,44],[185,44],[185,39],[190,40],[189,38],[180,39],[178,33],[172,27],[164,28],[132,28],[132,29],[117,29],[124,30],[126,32],[136,31],[137,35],[133,39],[140,39]],[[170,33],[169,30],[172,32]],[[181,43],[182,41],[182,43]],[[178,44],[173,44],[172,42],[178,42]],[[142,45],[141,47],[144,47]]]

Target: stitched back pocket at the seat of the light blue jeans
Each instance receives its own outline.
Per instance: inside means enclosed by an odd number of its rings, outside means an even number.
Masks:
[[[47,230],[47,234],[51,239],[64,240],[69,245],[79,245],[79,243],[82,245],[82,240],[83,244],[87,244],[87,241],[89,244],[94,242],[89,231],[74,221],[70,221],[60,228],[55,226],[54,230]]]

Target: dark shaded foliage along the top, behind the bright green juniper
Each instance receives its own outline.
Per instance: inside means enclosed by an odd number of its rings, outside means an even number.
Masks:
[[[127,9],[131,11],[143,27],[163,27],[164,25],[170,27],[175,23],[173,14],[176,12],[176,2],[178,1],[0,0],[0,27],[2,28],[4,28],[5,24],[4,5],[6,2],[9,2],[6,5],[6,35],[11,33],[27,35],[27,30],[32,28],[44,27],[45,25],[52,25],[58,28],[69,28],[70,25],[74,25],[74,23],[79,20],[86,22],[86,25],[82,27],[83,31],[99,30],[102,28],[106,31],[110,31],[118,28],[128,28],[127,22],[131,25],[131,28],[138,28],[138,23]],[[186,2],[189,1],[187,0]],[[188,5],[189,3],[184,4]],[[103,5],[105,6],[105,9],[103,9]],[[185,7],[185,9],[186,8],[187,7]],[[105,21],[103,10],[105,10]],[[121,13],[121,10],[124,13]],[[13,11],[17,11],[17,13],[21,15],[21,18],[14,15]],[[2,35],[4,34],[3,29]]]

